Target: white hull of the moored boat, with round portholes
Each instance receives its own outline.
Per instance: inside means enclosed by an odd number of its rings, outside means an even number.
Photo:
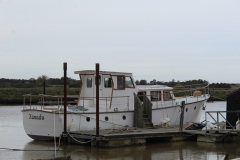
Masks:
[[[185,105],[184,124],[199,122],[206,100],[189,103]],[[59,137],[64,128],[63,113],[54,113],[41,110],[23,110],[23,125],[28,136],[36,140],[51,140]],[[167,108],[156,108],[152,110],[152,122],[154,125],[161,125],[166,118],[170,119],[170,125],[179,125],[180,107],[172,106]],[[31,116],[30,116],[31,115]],[[55,122],[54,122],[55,117]],[[108,121],[106,121],[106,117]],[[125,117],[125,118],[124,118]],[[32,119],[33,118],[33,119]],[[123,112],[102,112],[99,114],[100,129],[121,129],[123,127],[134,127],[134,111]],[[74,122],[76,131],[95,130],[95,113],[68,113],[67,130]],[[54,131],[55,128],[55,131]],[[54,134],[55,133],[55,134]]]

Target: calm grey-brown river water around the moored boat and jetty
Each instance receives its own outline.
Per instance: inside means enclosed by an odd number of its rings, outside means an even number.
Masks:
[[[22,106],[0,106],[0,159],[51,159],[70,155],[73,160],[222,160],[240,157],[238,143],[151,142],[120,148],[94,148],[90,145],[59,146],[54,142],[34,141],[23,129]],[[226,110],[226,102],[209,102],[206,111]],[[202,115],[205,119],[205,114]],[[58,148],[58,144],[57,144]]]

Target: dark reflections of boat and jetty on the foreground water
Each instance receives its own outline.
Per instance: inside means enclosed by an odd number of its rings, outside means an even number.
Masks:
[[[23,159],[54,157],[54,146],[50,142],[40,144],[33,141],[27,143],[24,150]],[[222,160],[226,153],[230,154],[230,158],[236,158],[239,150],[240,147],[237,143],[203,142],[163,142],[121,148],[61,145],[60,151],[57,151],[57,156],[70,155],[74,160]]]

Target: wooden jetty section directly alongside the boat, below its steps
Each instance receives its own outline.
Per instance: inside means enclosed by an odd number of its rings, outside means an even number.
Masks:
[[[99,145],[100,147],[120,147],[145,144],[147,140],[151,138],[171,139],[170,141],[184,138],[183,133],[179,132],[177,127],[99,130],[99,137],[96,137],[95,130],[69,132],[69,135],[69,142],[75,142],[75,140],[84,142],[91,141],[91,146]]]

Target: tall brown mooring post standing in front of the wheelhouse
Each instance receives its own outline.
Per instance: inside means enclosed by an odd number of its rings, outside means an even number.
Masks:
[[[96,63],[96,146],[99,146],[99,63]]]

